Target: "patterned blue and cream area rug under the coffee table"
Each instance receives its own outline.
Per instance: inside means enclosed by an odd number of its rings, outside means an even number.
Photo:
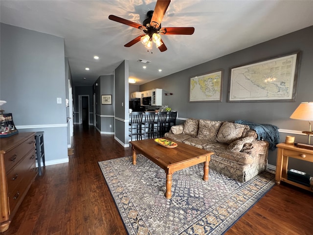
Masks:
[[[99,162],[130,235],[221,235],[273,185],[263,172],[245,184],[203,164],[173,174],[172,198],[166,199],[163,169],[141,154]]]

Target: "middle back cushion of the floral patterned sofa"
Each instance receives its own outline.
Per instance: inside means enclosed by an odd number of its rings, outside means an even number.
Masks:
[[[207,141],[216,141],[216,135],[222,125],[222,121],[200,119],[197,138]]]

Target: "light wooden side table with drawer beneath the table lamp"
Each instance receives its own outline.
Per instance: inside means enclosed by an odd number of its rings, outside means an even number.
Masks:
[[[276,145],[277,150],[277,163],[276,163],[276,175],[275,175],[275,183],[277,185],[280,184],[280,181],[286,182],[288,184],[297,186],[299,188],[307,189],[313,192],[313,189],[293,182],[287,179],[287,171],[288,171],[288,160],[289,158],[295,158],[302,161],[308,161],[313,163],[313,150],[298,148],[291,144],[279,143]]]

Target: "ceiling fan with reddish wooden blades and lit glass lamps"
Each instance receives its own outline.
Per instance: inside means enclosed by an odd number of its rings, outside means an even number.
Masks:
[[[148,11],[147,19],[143,21],[143,25],[134,23],[132,21],[120,18],[118,16],[110,15],[109,19],[116,21],[121,24],[127,24],[134,28],[143,30],[145,34],[141,34],[129,43],[125,44],[124,47],[131,47],[137,42],[141,41],[142,44],[149,50],[152,49],[154,42],[156,47],[160,51],[167,50],[160,34],[180,34],[180,35],[191,35],[194,33],[194,27],[161,27],[161,21],[165,15],[165,12],[170,4],[171,0],[157,0],[154,11]]]

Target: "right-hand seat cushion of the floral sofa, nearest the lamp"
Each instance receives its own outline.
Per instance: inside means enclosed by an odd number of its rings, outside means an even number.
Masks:
[[[234,164],[253,164],[254,159],[250,154],[227,150],[227,146],[227,144],[218,142],[206,143],[204,144],[203,149],[211,151],[214,153],[214,155],[217,155],[221,158],[233,161],[235,162]]]

